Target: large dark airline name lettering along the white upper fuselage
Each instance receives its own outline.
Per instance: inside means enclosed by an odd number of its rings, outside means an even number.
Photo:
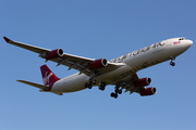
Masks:
[[[145,47],[145,48],[139,49],[139,50],[136,50],[136,51],[131,52],[131,53],[128,53],[128,54],[125,54],[125,55],[122,55],[122,56],[120,56],[120,57],[113,58],[113,60],[111,60],[110,62],[111,62],[111,63],[122,63],[122,62],[123,62],[124,60],[126,60],[126,58],[130,58],[130,57],[139,55],[139,54],[145,53],[145,52],[148,52],[149,50],[152,50],[152,49],[157,49],[157,48],[163,47],[163,46],[167,44],[166,42],[167,42],[167,40],[163,40],[163,41],[154,43],[154,44],[151,44],[151,46]]]

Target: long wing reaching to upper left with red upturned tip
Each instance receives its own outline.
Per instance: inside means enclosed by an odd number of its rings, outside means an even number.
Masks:
[[[89,69],[89,64],[95,62],[95,58],[87,58],[87,57],[82,57],[82,56],[77,56],[77,55],[72,55],[72,54],[68,54],[68,53],[63,53],[63,51],[61,51],[61,55],[53,57],[53,55],[56,56],[57,51],[61,50],[61,49],[57,49],[57,50],[49,50],[49,49],[44,49],[44,48],[39,48],[39,47],[35,47],[35,46],[30,46],[30,44],[26,44],[26,43],[21,43],[17,41],[13,41],[10,40],[7,37],[3,37],[4,40],[13,46],[36,52],[39,54],[40,57],[46,58],[46,61],[52,61],[58,63],[57,66],[59,65],[65,65],[69,67],[69,69],[74,68],[77,69],[82,73],[84,73],[87,76],[90,76],[93,72],[98,72],[99,74],[106,74],[109,72],[112,72],[121,66],[123,66],[123,64],[121,63],[108,63],[108,65],[106,67],[102,68],[96,68],[96,69]],[[50,55],[52,54],[53,55]],[[51,58],[52,57],[52,58]]]

